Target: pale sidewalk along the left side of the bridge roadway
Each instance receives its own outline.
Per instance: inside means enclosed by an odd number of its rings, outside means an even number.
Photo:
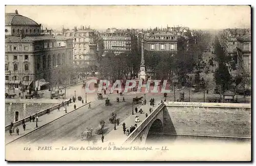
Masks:
[[[79,107],[83,106],[83,105],[86,105],[85,103],[82,104],[81,101],[76,101],[75,103],[72,102],[69,104],[69,106],[67,106],[67,113],[70,113],[70,112],[73,112],[75,109],[74,109],[74,104],[76,105],[76,109],[78,109]],[[14,133],[12,133],[12,135],[10,135],[9,133],[9,130],[5,132],[5,143],[8,144],[16,139],[18,139],[19,137],[22,137],[38,128],[40,128],[41,126],[43,125],[46,125],[64,115],[67,115],[67,113],[63,110],[63,106],[60,107],[59,109],[59,112],[58,112],[58,109],[55,109],[55,110],[52,110],[50,112],[50,114],[45,114],[45,115],[42,115],[40,117],[38,117],[38,122],[37,122],[37,128],[35,127],[36,126],[36,122],[26,122],[26,130],[24,131],[23,130],[23,125],[19,125],[17,127],[15,127],[14,129]],[[36,121],[36,120],[35,120]],[[16,128],[19,129],[19,135],[17,135],[16,133]]]

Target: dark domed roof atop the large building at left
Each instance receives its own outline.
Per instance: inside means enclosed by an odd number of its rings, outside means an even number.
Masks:
[[[15,13],[6,13],[5,14],[5,25],[38,25],[34,20],[19,15],[16,10]]]

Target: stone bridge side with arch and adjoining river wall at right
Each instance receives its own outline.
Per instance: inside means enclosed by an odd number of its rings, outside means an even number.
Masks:
[[[251,105],[163,102],[127,137],[144,145],[148,134],[251,138]]]

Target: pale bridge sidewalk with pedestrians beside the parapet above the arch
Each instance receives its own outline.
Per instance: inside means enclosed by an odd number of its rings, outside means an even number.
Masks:
[[[123,122],[125,123],[126,130],[129,129],[131,126],[134,126],[137,124],[137,127],[146,119],[146,113],[147,116],[150,115],[150,108],[153,108],[153,110],[158,106],[158,104],[161,102],[161,100],[155,100],[155,105],[150,105],[150,102],[148,101],[146,105],[137,104],[138,111],[140,108],[142,108],[143,113],[135,113],[135,106],[134,106],[134,115],[130,115],[127,117]],[[132,113],[132,110],[131,110]],[[139,116],[139,123],[135,123],[135,117]],[[115,145],[121,145],[124,143],[124,141],[127,139],[127,135],[123,133],[123,122],[119,124],[119,126],[116,126],[116,130],[114,128],[106,135],[104,135],[104,142],[101,143],[101,140],[99,140],[100,145],[108,146],[109,143],[115,144]]]

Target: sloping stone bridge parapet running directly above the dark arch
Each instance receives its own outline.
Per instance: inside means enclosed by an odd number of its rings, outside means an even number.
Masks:
[[[164,103],[159,104],[156,109],[154,109],[153,112],[138,127],[136,127],[136,129],[127,137],[123,144],[129,145],[135,142],[135,139],[138,139],[139,134],[145,129],[145,127],[151,127],[150,123],[154,122],[153,119],[158,115],[164,106]],[[140,140],[140,142],[141,141],[142,140]]]

